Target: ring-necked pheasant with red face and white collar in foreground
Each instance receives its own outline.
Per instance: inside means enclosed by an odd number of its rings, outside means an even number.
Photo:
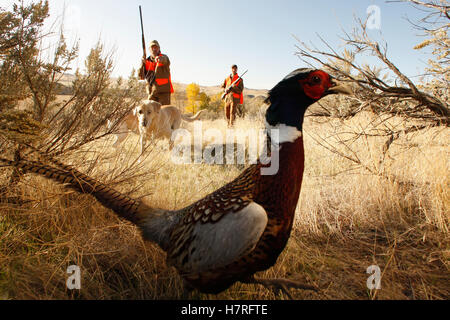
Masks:
[[[154,209],[54,159],[52,165],[20,160],[2,162],[92,194],[119,216],[136,224],[146,240],[167,252],[186,283],[218,293],[237,281],[292,285],[257,280],[254,273],[273,266],[292,229],[304,170],[303,117],[322,97],[351,94],[326,72],[298,69],[278,83],[266,102],[268,129],[279,130],[279,170],[262,175],[271,164],[247,168],[234,181],[192,205],[178,210]],[[268,137],[270,141],[270,137]]]

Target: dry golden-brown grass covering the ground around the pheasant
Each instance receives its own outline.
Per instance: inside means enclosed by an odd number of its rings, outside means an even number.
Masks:
[[[361,114],[343,125],[370,121]],[[393,119],[392,121],[395,121]],[[260,122],[240,120],[240,128]],[[224,121],[204,128],[225,130]],[[292,237],[278,263],[262,277],[302,279],[318,293],[293,291],[297,299],[448,299],[449,129],[435,128],[397,141],[388,172],[409,183],[370,175],[320,147],[311,135],[331,130],[305,123],[306,172]],[[332,132],[329,132],[330,135]],[[356,146],[376,161],[382,140]],[[108,173],[133,161],[136,137],[119,153],[105,140],[86,156],[106,159],[93,174]],[[236,177],[241,167],[174,165],[167,143],[158,143],[144,162],[146,181],[137,196],[150,194],[155,206],[181,208]],[[0,172],[4,180],[7,170]],[[145,172],[144,172],[145,173]],[[412,183],[411,183],[412,182]],[[134,185],[118,186],[124,191]],[[0,298],[10,299],[179,299],[182,282],[165,264],[164,254],[144,243],[137,229],[88,195],[68,191],[46,179],[26,176],[11,194],[28,200],[0,203]],[[66,289],[65,270],[77,264],[82,289]],[[366,269],[382,270],[382,289],[366,287]],[[192,299],[283,299],[257,286],[236,284],[217,295]]]

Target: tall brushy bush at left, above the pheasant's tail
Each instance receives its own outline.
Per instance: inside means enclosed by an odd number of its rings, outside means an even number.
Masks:
[[[126,81],[111,79],[114,52],[105,52],[99,42],[87,57],[85,69],[76,71],[71,95],[58,96],[78,46],[66,44],[61,27],[56,41],[42,47],[43,39],[55,39],[54,32],[43,31],[48,10],[47,1],[36,1],[28,6],[19,2],[11,12],[0,11],[0,30],[5,34],[0,41],[0,150],[15,159],[41,154],[57,157],[98,176],[101,170],[95,169],[107,152],[90,152],[92,143],[116,131],[121,119],[145,96],[145,89],[135,72]],[[110,170],[117,176],[107,181],[125,183],[126,177],[145,174],[137,161],[116,162],[126,165]],[[20,177],[21,172],[12,170],[2,191]]]

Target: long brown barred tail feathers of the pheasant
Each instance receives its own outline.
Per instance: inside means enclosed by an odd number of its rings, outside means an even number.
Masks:
[[[53,162],[59,168],[37,161],[11,161],[0,158],[0,163],[66,184],[78,192],[91,194],[105,207],[135,225],[141,226],[144,220],[156,211],[143,202],[132,199],[70,166],[60,164],[56,160]]]

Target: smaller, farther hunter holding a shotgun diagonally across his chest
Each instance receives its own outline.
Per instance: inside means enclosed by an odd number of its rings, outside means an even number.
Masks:
[[[237,65],[231,66],[231,74],[225,79],[222,84],[222,88],[225,90],[229,89],[231,84],[239,78],[237,73],[238,67]],[[244,80],[239,80],[227,94],[225,98],[225,117],[227,118],[228,126],[232,127],[234,125],[234,121],[236,120],[236,112],[237,108],[240,104],[244,103]]]

